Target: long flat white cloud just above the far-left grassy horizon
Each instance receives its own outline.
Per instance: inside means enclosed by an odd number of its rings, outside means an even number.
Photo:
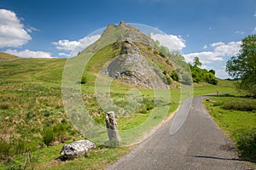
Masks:
[[[7,54],[14,54],[18,57],[22,58],[52,58],[51,54],[44,51],[31,51],[29,49],[25,49],[23,51],[17,51],[16,49],[7,49],[5,51]]]

